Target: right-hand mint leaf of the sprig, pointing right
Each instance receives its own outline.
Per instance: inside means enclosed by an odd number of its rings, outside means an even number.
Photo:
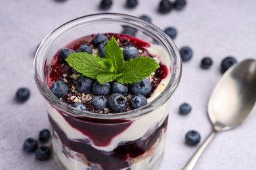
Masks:
[[[116,80],[121,84],[138,82],[142,78],[150,76],[159,67],[160,65],[153,58],[139,57],[129,59],[129,61],[125,61],[123,75],[117,77]]]

